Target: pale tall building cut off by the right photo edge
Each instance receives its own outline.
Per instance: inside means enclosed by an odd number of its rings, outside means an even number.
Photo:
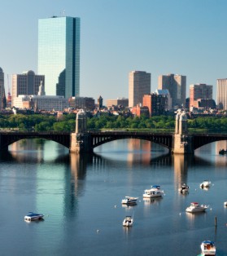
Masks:
[[[227,110],[227,78],[216,80],[216,104]]]

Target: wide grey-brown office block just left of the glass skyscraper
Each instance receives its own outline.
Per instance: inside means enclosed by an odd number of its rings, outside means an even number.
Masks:
[[[45,76],[36,75],[32,70],[13,74],[11,106],[14,106],[14,99],[19,95],[37,95],[41,83],[45,87]]]

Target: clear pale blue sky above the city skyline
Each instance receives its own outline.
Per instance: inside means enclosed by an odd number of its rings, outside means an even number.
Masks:
[[[227,0],[0,0],[0,67],[37,73],[38,19],[81,18],[81,96],[128,98],[131,70],[214,86],[227,77]],[[47,85],[46,85],[47,86]]]

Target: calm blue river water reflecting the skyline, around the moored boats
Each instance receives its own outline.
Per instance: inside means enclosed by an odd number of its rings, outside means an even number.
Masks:
[[[218,155],[226,147],[167,156],[158,145],[125,139],[78,157],[50,141],[14,143],[0,157],[0,254],[198,255],[200,243],[212,240],[216,255],[227,255],[227,156]],[[212,181],[207,191],[199,188],[204,179]],[[181,183],[190,186],[186,196]],[[165,196],[143,201],[152,184]],[[138,205],[122,207],[124,196],[138,196]],[[186,214],[192,201],[210,208]],[[24,222],[28,211],[45,220]],[[125,215],[133,227],[122,227]]]

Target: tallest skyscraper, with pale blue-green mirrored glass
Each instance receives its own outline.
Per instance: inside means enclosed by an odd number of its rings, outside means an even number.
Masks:
[[[38,21],[38,73],[46,95],[80,95],[80,18],[53,16]]]

